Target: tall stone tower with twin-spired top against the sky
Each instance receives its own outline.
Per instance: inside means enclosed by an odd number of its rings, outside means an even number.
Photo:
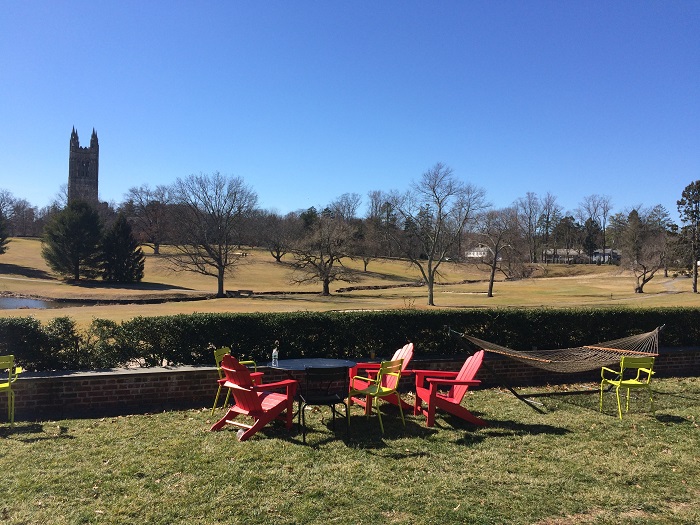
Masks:
[[[92,129],[90,147],[81,148],[78,132],[70,134],[70,157],[68,159],[68,202],[83,200],[97,204],[97,174],[100,160],[100,145],[97,133]]]

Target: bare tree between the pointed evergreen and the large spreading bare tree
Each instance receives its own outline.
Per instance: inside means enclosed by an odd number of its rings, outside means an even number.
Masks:
[[[129,188],[125,199],[130,208],[130,219],[134,222],[136,238],[153,253],[160,253],[160,245],[165,241],[169,225],[168,206],[172,203],[171,190],[159,185],[151,188],[148,184]]]

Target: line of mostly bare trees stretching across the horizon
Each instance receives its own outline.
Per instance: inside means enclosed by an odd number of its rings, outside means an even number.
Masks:
[[[681,225],[660,205],[613,213],[610,197],[597,194],[584,197],[573,211],[565,212],[549,193],[527,193],[497,209],[482,188],[461,180],[442,163],[404,191],[370,191],[360,216],[362,204],[361,195],[346,193],[324,206],[283,215],[260,209],[257,194],[242,178],[218,172],[154,188],[144,184],[130,188],[119,205],[100,203],[91,210],[90,220],[99,223],[100,232],[92,251],[99,256],[91,260],[86,255],[81,273],[75,267],[61,271],[51,262],[60,254],[47,248],[55,243],[56,217],[65,219],[71,209],[65,195],[35,213],[30,227],[26,202],[0,190],[0,250],[10,236],[40,234],[44,256],[57,273],[78,279],[101,272],[103,278],[115,279],[105,273],[109,248],[104,232],[119,223],[120,233],[112,231],[111,249],[128,249],[112,255],[113,266],[131,264],[138,276],[143,258],[139,245],[150,246],[174,268],[215,277],[218,296],[225,295],[226,277],[245,257],[244,246],[265,248],[277,263],[289,266],[293,282],[320,283],[324,295],[330,294],[334,281],[357,280],[357,273],[345,266],[347,260],[361,260],[368,271],[373,260],[386,257],[407,260],[418,269],[429,305],[434,304],[434,285],[445,261],[487,268],[489,296],[496,275],[526,277],[535,265],[555,262],[619,264],[634,274],[638,293],[660,270],[687,271],[697,293],[700,181],[689,184],[677,202]],[[168,249],[161,251],[165,245]],[[116,279],[127,277],[122,273]]]

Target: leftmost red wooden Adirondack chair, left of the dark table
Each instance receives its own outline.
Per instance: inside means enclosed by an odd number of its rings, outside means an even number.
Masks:
[[[219,379],[219,384],[231,389],[234,404],[224,417],[212,425],[211,430],[220,430],[227,424],[234,425],[241,428],[237,433],[238,440],[245,441],[273,419],[281,419],[285,422],[287,429],[292,428],[294,394],[297,389],[295,380],[285,379],[275,383],[254,384],[250,370],[229,354],[225,355],[221,361],[221,370],[224,372],[224,377]],[[271,391],[282,388],[285,393]],[[283,415],[285,410],[287,412]],[[247,425],[234,421],[234,418],[239,415],[252,417],[253,424]]]

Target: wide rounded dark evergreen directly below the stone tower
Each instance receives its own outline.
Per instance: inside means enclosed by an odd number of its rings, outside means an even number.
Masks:
[[[73,201],[44,228],[41,255],[54,272],[94,278],[100,274],[102,223],[88,203]]]

